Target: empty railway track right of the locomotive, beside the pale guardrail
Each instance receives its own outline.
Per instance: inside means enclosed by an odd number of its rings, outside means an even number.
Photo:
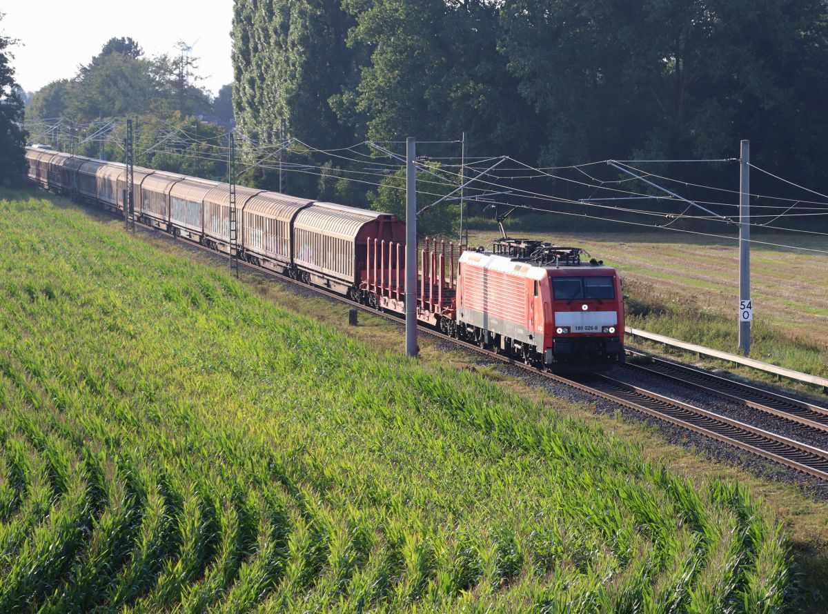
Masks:
[[[627,353],[632,356],[648,356],[646,353],[637,352],[630,348],[627,348]],[[828,407],[798,401],[776,392],[765,391],[756,386],[701,371],[695,367],[676,364],[657,357],[649,358],[651,362],[628,362],[627,366],[634,370],[653,373],[659,377],[676,381],[682,386],[689,386],[799,425],[805,425],[820,433],[828,433]]]

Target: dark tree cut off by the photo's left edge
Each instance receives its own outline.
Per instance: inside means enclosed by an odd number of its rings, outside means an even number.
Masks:
[[[0,21],[3,17],[0,13]],[[15,42],[8,36],[0,36],[0,185],[14,185],[26,176],[23,100],[9,65],[8,48]]]

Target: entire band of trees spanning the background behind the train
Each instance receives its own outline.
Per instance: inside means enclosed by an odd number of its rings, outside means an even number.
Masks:
[[[132,116],[137,151],[147,151],[138,164],[211,177],[226,172],[226,143],[223,127],[199,119],[205,114],[225,125],[234,116],[239,132],[265,145],[286,137],[325,148],[407,136],[456,141],[466,132],[469,156],[508,155],[540,167],[729,158],[746,138],[755,164],[819,189],[828,179],[826,28],[825,0],[236,0],[233,84],[214,100],[198,87],[195,60],[147,58],[136,41],[113,37],[74,77],[37,92],[26,121],[68,118],[92,132],[95,122]],[[6,136],[20,145],[10,42],[0,41],[0,111]],[[170,137],[175,130],[180,137]],[[267,147],[260,151],[268,156]],[[456,156],[459,146],[427,151]],[[123,156],[112,142],[86,142],[76,152]],[[288,192],[402,206],[392,198],[399,173],[360,183],[341,157],[299,143],[284,156],[294,163],[284,177]],[[278,172],[267,166],[243,181],[277,189]],[[737,174],[734,165],[647,170],[725,189]],[[440,164],[431,171],[440,174]],[[554,178],[531,185],[578,199],[598,181],[619,180],[609,168],[590,173],[586,185]],[[427,176],[431,193],[444,194]],[[764,179],[756,177],[753,191]],[[776,193],[782,187],[768,184]],[[682,194],[693,192],[687,186]]]

